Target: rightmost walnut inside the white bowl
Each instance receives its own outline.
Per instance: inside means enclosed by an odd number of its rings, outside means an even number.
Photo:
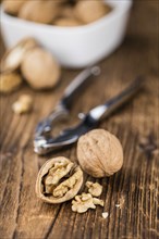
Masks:
[[[78,1],[74,8],[75,16],[88,24],[110,12],[110,7],[102,1]]]

